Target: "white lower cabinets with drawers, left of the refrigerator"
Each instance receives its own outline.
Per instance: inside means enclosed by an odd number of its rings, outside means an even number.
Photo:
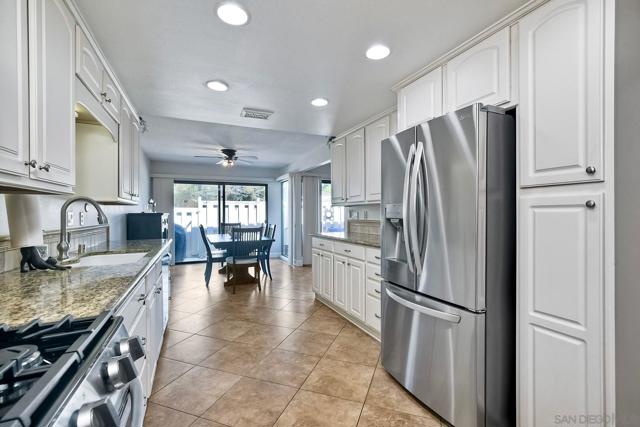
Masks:
[[[318,237],[313,238],[313,246],[311,268],[316,296],[379,337],[380,250]]]

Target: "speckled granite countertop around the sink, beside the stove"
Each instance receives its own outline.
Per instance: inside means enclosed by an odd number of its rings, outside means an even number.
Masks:
[[[66,271],[19,269],[0,273],[0,324],[18,326],[33,319],[55,321],[68,314],[97,316],[116,308],[171,240],[111,242],[83,255],[146,252],[130,264],[76,267]]]

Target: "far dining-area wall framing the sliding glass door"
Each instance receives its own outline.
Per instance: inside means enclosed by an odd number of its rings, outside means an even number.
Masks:
[[[267,221],[276,224],[276,241],[271,248],[272,256],[280,255],[280,231],[282,194],[280,183],[276,181],[278,169],[241,167],[223,168],[197,163],[151,162],[153,198],[158,203],[158,211],[173,212],[173,181],[240,182],[243,184],[267,184]],[[171,218],[173,235],[173,218]]]

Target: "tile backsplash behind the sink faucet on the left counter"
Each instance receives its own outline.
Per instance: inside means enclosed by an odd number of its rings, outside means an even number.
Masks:
[[[109,240],[109,225],[91,225],[87,227],[77,227],[68,230],[69,232],[69,252],[76,252],[78,246],[83,244],[87,249],[98,246]],[[56,257],[58,252],[56,246],[60,239],[59,230],[47,230],[42,232],[44,246],[39,247],[40,252],[47,256]],[[20,249],[11,247],[9,236],[0,236],[0,273],[19,268]]]

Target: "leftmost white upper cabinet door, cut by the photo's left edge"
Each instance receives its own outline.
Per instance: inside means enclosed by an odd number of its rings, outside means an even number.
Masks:
[[[27,2],[0,2],[0,172],[29,175]]]

